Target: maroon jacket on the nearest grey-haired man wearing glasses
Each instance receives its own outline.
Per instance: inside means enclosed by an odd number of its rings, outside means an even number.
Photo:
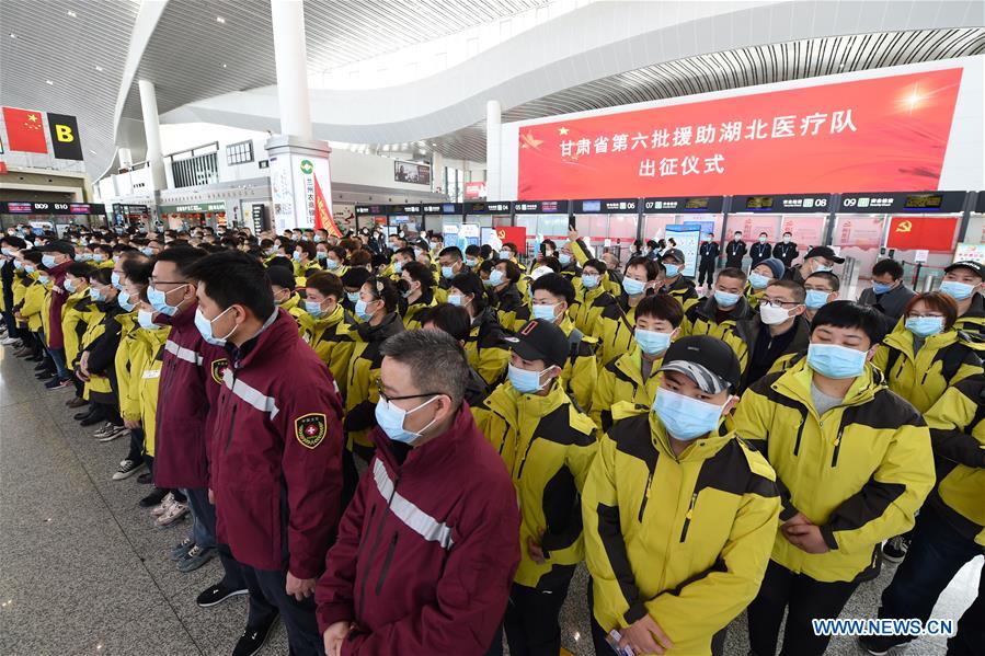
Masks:
[[[377,428],[318,582],[322,633],[356,624],[342,653],[481,656],[519,563],[519,508],[503,459],[462,404],[450,430],[402,464]]]

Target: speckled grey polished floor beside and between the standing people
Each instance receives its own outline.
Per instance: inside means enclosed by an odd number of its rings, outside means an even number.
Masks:
[[[242,631],[247,602],[213,608],[195,596],[218,579],[218,564],[180,573],[167,552],[188,523],[153,526],[137,500],[149,487],[111,475],[125,439],[101,444],[65,407],[70,392],[46,391],[30,362],[0,350],[0,654],[5,656],[140,654],[228,655]],[[982,557],[941,596],[935,617],[959,618],[977,590]],[[862,586],[843,617],[871,617],[893,569]],[[593,653],[585,576],[562,613],[564,646]],[[731,626],[726,654],[748,651],[745,620]],[[907,654],[943,654],[943,638],[921,640]],[[277,630],[264,654],[287,654]],[[860,654],[836,638],[829,654]]]

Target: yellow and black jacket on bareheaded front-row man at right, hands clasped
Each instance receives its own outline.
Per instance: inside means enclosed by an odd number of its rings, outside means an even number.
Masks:
[[[821,582],[855,580],[880,542],[909,530],[934,485],[930,434],[919,413],[866,366],[840,405],[818,416],[805,360],[754,383],[735,433],[765,453],[783,500],[821,527],[831,551],[809,554],[776,532],[772,560]]]

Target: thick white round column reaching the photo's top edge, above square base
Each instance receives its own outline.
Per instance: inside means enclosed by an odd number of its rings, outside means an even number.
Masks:
[[[274,58],[277,65],[277,99],[280,104],[280,134],[311,139],[305,5],[301,0],[271,0],[271,14],[274,25]]]

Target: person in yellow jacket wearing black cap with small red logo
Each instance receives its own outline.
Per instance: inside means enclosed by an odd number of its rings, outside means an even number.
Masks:
[[[584,559],[581,491],[597,438],[560,382],[569,350],[560,327],[531,321],[515,337],[508,380],[472,411],[519,498],[520,562],[503,621],[514,654],[559,653],[558,615]]]

